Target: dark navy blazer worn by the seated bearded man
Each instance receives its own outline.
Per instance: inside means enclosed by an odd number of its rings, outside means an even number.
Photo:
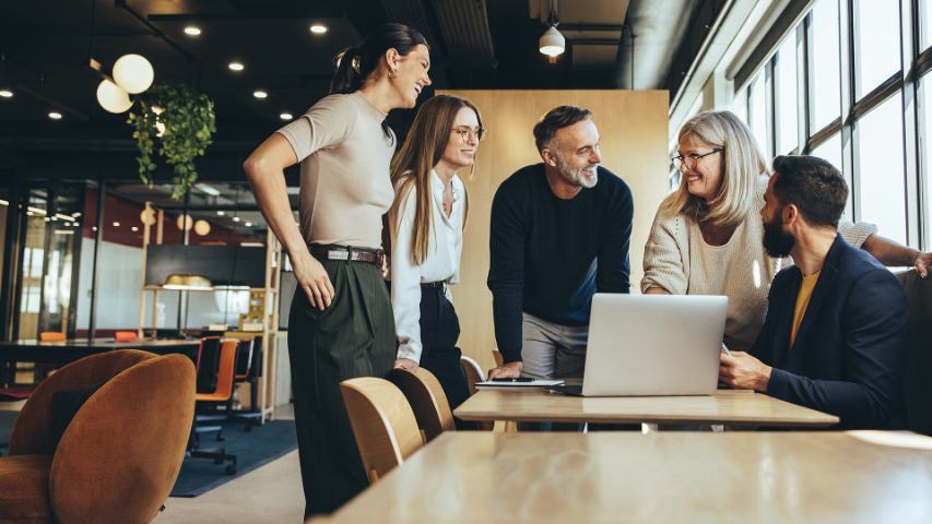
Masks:
[[[774,368],[767,394],[836,415],[843,428],[901,427],[909,312],[896,277],[836,237],[790,347],[801,283],[795,266],[777,274],[751,349]]]

